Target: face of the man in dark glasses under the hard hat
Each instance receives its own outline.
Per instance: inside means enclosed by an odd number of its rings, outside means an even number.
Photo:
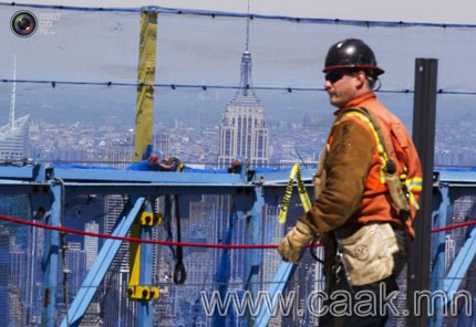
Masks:
[[[331,105],[340,108],[358,96],[358,91],[361,88],[361,73],[334,70],[325,74],[324,87]]]

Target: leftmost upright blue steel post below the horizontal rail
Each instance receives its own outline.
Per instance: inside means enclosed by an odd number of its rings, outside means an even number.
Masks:
[[[64,205],[63,186],[55,180],[50,181],[53,203],[46,213],[46,223],[60,226]],[[43,314],[41,326],[55,326],[56,318],[56,293],[58,293],[58,267],[60,252],[60,232],[46,230],[44,232],[44,254],[42,261],[43,277]]]

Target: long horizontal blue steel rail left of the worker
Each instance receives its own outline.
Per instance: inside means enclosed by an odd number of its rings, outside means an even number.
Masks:
[[[91,167],[94,168],[94,167]],[[313,170],[303,169],[307,182]],[[289,171],[257,172],[249,178],[245,170],[238,175],[203,170],[199,172],[165,172],[97,168],[52,168],[48,165],[0,167],[0,194],[41,193],[44,179],[61,178],[69,194],[232,194],[238,188],[253,188],[255,181],[273,192],[286,186]],[[33,183],[32,183],[33,182]]]

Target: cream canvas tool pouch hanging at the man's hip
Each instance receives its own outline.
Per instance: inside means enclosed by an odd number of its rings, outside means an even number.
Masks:
[[[405,233],[390,223],[369,223],[350,236],[334,232],[338,255],[351,286],[368,285],[400,273],[404,265]]]

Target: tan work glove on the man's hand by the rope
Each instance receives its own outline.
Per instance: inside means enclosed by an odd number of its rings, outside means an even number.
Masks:
[[[301,257],[302,249],[314,239],[314,233],[303,222],[299,221],[296,226],[286,234],[278,246],[282,259],[292,263],[298,263]]]

